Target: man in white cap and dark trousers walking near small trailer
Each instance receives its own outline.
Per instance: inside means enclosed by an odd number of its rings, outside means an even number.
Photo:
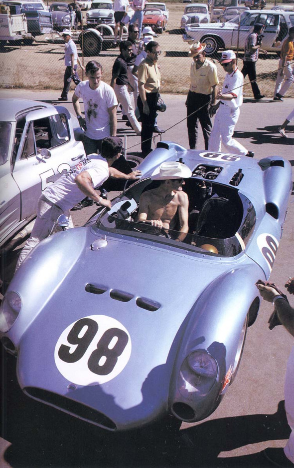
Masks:
[[[85,68],[78,57],[77,46],[71,38],[71,31],[69,29],[63,29],[61,35],[62,39],[65,42],[64,64],[66,68],[63,77],[63,90],[58,100],[67,101],[67,94],[70,88],[72,77],[74,77],[75,84],[78,84],[81,81],[76,71],[78,64],[80,65],[82,70],[85,70]]]

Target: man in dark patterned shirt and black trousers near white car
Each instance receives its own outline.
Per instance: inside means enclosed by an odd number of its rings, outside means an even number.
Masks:
[[[262,34],[263,29],[264,24],[257,23],[254,25],[253,32],[248,34],[246,37],[243,68],[241,70],[244,78],[248,75],[251,82],[253,95],[256,100],[265,97],[264,94],[260,93],[258,84],[256,82],[256,62],[258,60],[259,52],[264,52],[266,55],[268,53],[266,50],[261,48],[262,39],[264,37]]]

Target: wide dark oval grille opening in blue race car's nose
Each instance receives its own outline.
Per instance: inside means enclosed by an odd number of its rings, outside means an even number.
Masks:
[[[78,418],[95,424],[96,426],[100,426],[110,431],[116,431],[117,429],[115,423],[104,414],[70,398],[49,392],[48,390],[38,389],[36,387],[25,387],[23,391],[35,400],[46,403],[54,408],[59,408],[65,413],[77,416]]]

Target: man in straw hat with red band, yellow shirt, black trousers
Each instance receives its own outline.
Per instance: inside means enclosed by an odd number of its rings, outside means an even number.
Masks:
[[[219,83],[216,65],[205,57],[205,47],[205,43],[196,41],[188,52],[188,56],[193,58],[190,68],[191,84],[186,100],[190,149],[197,147],[198,119],[202,127],[205,149],[208,148],[212,129],[208,109],[210,104],[215,105]]]

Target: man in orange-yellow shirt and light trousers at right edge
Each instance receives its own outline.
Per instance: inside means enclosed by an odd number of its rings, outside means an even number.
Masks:
[[[279,60],[276,87],[274,92],[274,101],[283,101],[283,97],[288,91],[289,87],[294,81],[294,70],[292,69],[291,62],[294,57],[294,26],[289,28],[289,36],[282,44],[281,58]],[[283,83],[284,81],[284,83]],[[283,84],[282,84],[283,83]]]

